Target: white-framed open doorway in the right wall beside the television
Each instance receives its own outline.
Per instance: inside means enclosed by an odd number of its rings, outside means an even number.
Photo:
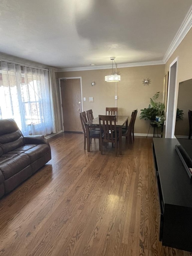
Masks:
[[[179,90],[179,84],[177,84],[178,61],[179,61],[179,56],[177,56],[176,59],[174,59],[169,66],[167,113],[166,113],[167,114],[166,119],[169,120],[169,122],[166,121],[165,138],[175,138],[174,132],[175,132],[177,100],[178,100],[178,90]],[[174,99],[173,99],[172,93],[174,93]]]

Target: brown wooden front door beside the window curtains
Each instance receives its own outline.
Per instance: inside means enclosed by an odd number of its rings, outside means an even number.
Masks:
[[[80,79],[61,80],[61,101],[64,132],[82,132],[79,113],[81,109]]]

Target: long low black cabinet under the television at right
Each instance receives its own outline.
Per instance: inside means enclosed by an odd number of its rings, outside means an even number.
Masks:
[[[192,251],[192,183],[176,144],[177,139],[153,138],[161,209],[159,239],[165,246]]]

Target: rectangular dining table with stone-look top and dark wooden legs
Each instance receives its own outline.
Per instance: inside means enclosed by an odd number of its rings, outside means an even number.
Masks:
[[[119,131],[119,154],[122,155],[122,127],[128,127],[129,116],[116,116],[116,129]],[[90,138],[89,131],[91,128],[99,128],[99,117],[94,118],[92,121],[88,121],[86,124],[87,134],[87,151],[90,152]]]

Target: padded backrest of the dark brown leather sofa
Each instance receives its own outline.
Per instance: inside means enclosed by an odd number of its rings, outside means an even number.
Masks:
[[[0,155],[24,145],[24,139],[15,120],[0,120]],[[1,154],[2,152],[2,154]]]

